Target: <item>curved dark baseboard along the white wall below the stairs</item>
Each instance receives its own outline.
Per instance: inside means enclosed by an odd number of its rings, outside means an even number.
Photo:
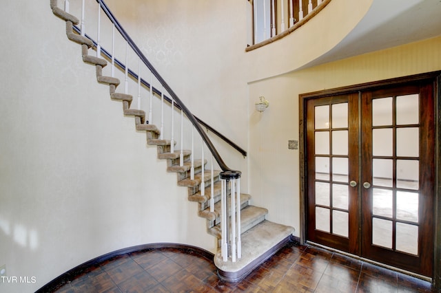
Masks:
[[[172,248],[172,249],[174,248],[174,249],[178,249],[178,250],[192,251],[192,252],[196,252],[198,254],[201,254],[203,257],[205,257],[206,259],[209,259],[210,261],[213,261],[213,259],[214,259],[214,254],[212,254],[212,252],[209,252],[209,251],[204,250],[202,248],[198,248],[196,246],[188,246],[188,245],[179,244],[179,243],[142,244],[139,246],[132,246],[129,248],[115,250],[114,252],[109,252],[109,253],[103,254],[99,257],[96,257],[90,261],[86,261],[85,263],[81,263],[81,265],[78,265],[75,268],[72,268],[72,270],[68,270],[68,272],[65,272],[64,274],[57,276],[57,278],[53,279],[52,281],[50,281],[49,283],[47,283],[46,285],[41,287],[39,290],[37,290],[36,293],[54,292],[61,285],[68,283],[68,281],[74,279],[75,276],[82,274],[88,268],[90,268],[94,265],[99,265],[99,263],[102,263],[103,261],[107,261],[107,260],[112,259],[114,257],[119,257],[119,256],[127,254],[127,253],[142,252],[142,251],[147,251],[147,250],[156,250],[156,249],[163,249],[163,248]]]

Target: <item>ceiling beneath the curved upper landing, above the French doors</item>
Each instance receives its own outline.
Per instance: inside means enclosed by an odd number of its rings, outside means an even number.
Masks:
[[[302,68],[440,35],[441,0],[373,0],[345,39]]]

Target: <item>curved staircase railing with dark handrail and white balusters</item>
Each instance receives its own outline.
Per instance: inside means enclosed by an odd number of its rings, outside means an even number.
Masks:
[[[57,0],[51,1],[51,6],[57,6]],[[205,148],[208,149],[209,153],[211,153],[211,170],[209,179],[207,181],[211,184],[211,193],[209,198],[209,205],[211,213],[214,213],[214,161],[217,163],[219,168],[222,170],[220,172],[219,178],[221,181],[221,193],[220,193],[220,205],[221,205],[221,215],[220,215],[220,226],[221,226],[221,247],[220,252],[223,256],[224,261],[236,261],[236,259],[240,259],[241,257],[241,240],[240,240],[240,171],[236,171],[234,169],[230,169],[227,164],[220,157],[216,147],[209,139],[207,133],[203,130],[202,125],[208,130],[212,131],[214,134],[218,135],[220,138],[225,140],[228,144],[232,145],[234,149],[242,153],[244,156],[247,155],[246,151],[241,149],[239,146],[234,144],[231,140],[227,139],[224,135],[220,134],[218,131],[209,127],[208,124],[203,122],[202,120],[196,118],[191,111],[185,106],[180,98],[175,94],[170,85],[168,85],[165,80],[162,78],[160,74],[156,71],[150,61],[147,60],[143,52],[139,49],[139,47],[134,43],[134,41],[130,38],[129,34],[125,32],[122,25],[119,21],[114,17],[114,14],[110,11],[108,6],[104,3],[103,0],[95,0],[98,3],[98,7],[96,12],[89,12],[86,10],[86,7],[90,9],[92,6],[92,0],[88,0],[88,6],[86,6],[85,0],[82,0],[81,8],[76,8],[77,12],[81,10],[81,26],[78,28],[74,25],[74,30],[81,34],[82,36],[87,37],[94,43],[93,49],[96,50],[96,56],[99,58],[105,58],[110,61],[111,66],[110,76],[113,78],[118,76],[120,80],[124,80],[124,94],[132,94],[133,99],[136,97],[136,107],[137,110],[145,111],[148,118],[145,120],[145,124],[153,124],[153,122],[160,123],[160,140],[164,140],[165,136],[170,136],[170,153],[174,153],[174,144],[176,143],[176,136],[180,136],[179,146],[181,150],[179,151],[179,164],[183,166],[184,164],[184,145],[191,144],[191,166],[189,168],[190,179],[194,180],[195,169],[201,168],[201,184],[198,186],[201,191],[201,195],[205,196]],[[55,2],[53,4],[53,2]],[[77,3],[77,2],[76,2]],[[69,0],[64,0],[64,10],[65,12],[70,13],[72,7],[70,6]],[[107,19],[110,20],[110,23],[107,23],[107,27],[103,29],[105,26],[101,19],[101,13],[104,12],[107,16]],[[96,24],[90,22],[86,23],[86,14],[90,15],[90,13],[96,13]],[[91,17],[92,18],[92,17]],[[94,27],[96,25],[96,33],[90,32],[86,33],[86,27]],[[109,27],[110,25],[110,27]],[[112,47],[111,51],[106,50],[105,46],[103,46],[103,32],[110,33],[110,40],[107,40],[107,43],[110,41],[110,47]],[[116,34],[119,32],[119,35]],[[92,37],[92,35],[96,36],[96,39]],[[118,38],[121,39],[122,44],[118,43]],[[109,45],[109,44],[107,44]],[[132,50],[132,51],[130,51]],[[125,62],[121,62],[121,58],[116,58],[116,54],[119,54],[119,51],[125,51],[123,54],[123,58]],[[136,59],[133,61],[133,59]],[[130,69],[130,64],[136,63],[134,67],[138,67],[138,73]],[[145,74],[145,67],[148,69],[147,75],[150,79],[150,82],[147,82],[145,78],[142,78],[143,71]],[[133,68],[133,66],[132,66]],[[116,70],[117,69],[117,70]],[[121,77],[122,75],[122,77]],[[156,86],[154,86],[156,83]],[[159,90],[158,88],[161,88]],[[145,97],[145,98],[144,98]],[[160,97],[160,102],[158,105],[158,99]],[[132,102],[132,105],[134,103]],[[165,107],[170,106],[170,113],[165,113]],[[160,117],[156,116],[156,109],[160,108]],[[176,120],[174,118],[175,111],[178,111],[178,115],[180,116],[180,134],[175,131]],[[137,112],[139,113],[139,112]],[[148,113],[148,114],[147,114]],[[185,141],[184,138],[184,116],[187,118],[187,124],[189,123],[191,130],[191,142]],[[168,121],[168,122],[167,122]],[[170,125],[166,126],[165,123],[170,123]],[[202,124],[202,125],[201,125]],[[195,148],[197,148],[194,139],[194,130],[201,136],[201,145],[198,148],[201,151],[201,166],[196,166],[196,162],[194,160]],[[229,211],[228,211],[229,208]],[[229,217],[230,215],[230,217]],[[217,217],[218,219],[219,217]],[[215,224],[217,220],[214,220]]]

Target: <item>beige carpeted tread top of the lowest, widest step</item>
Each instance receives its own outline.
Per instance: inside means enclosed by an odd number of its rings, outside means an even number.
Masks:
[[[263,221],[247,230],[242,234],[242,258],[236,262],[224,262],[220,255],[220,250],[214,256],[214,264],[223,272],[247,272],[254,268],[253,261],[260,257],[265,257],[265,253],[274,248],[290,235],[294,233],[294,228],[271,221]],[[271,254],[268,256],[271,257]],[[267,257],[267,258],[268,258]],[[260,259],[260,263],[265,259]]]

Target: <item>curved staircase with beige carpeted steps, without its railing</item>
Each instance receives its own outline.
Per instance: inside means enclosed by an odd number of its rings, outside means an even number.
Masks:
[[[174,140],[161,139],[161,131],[158,127],[154,124],[146,124],[145,111],[130,108],[133,97],[129,94],[116,92],[116,88],[120,84],[118,78],[103,76],[103,67],[107,65],[107,60],[89,54],[90,49],[94,47],[94,42],[88,37],[74,32],[74,25],[79,24],[79,19],[59,8],[57,2],[57,0],[50,0],[50,8],[57,17],[65,21],[68,39],[81,45],[83,61],[95,67],[98,83],[109,86],[110,98],[123,104],[123,115],[133,116],[136,130],[145,131],[147,144],[156,146],[159,159],[167,160],[167,172],[176,173],[178,186],[187,187],[189,201],[198,203],[198,216],[207,220],[207,232],[218,239],[218,247],[220,247],[222,236],[220,228],[222,210],[220,206],[222,193],[220,174],[222,171],[213,171],[212,175],[209,170],[205,171],[207,160],[191,162],[192,151],[172,151]],[[191,175],[192,167],[194,168],[194,176]],[[205,192],[202,192],[202,188]],[[214,199],[212,210],[210,210],[211,197]],[[294,228],[267,221],[265,217],[268,210],[250,205],[250,199],[250,195],[240,194],[241,257],[236,261],[232,261],[232,259],[225,261],[220,250],[214,256],[218,275],[226,281],[238,281],[249,274],[291,241],[291,235],[294,232]]]

